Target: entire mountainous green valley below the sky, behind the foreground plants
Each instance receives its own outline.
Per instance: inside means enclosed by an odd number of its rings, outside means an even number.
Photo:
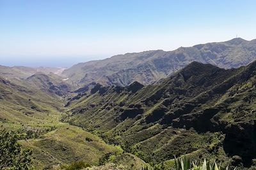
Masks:
[[[20,134],[35,169],[173,169],[182,155],[255,166],[255,42],[129,53],[62,72],[1,67],[0,128]]]

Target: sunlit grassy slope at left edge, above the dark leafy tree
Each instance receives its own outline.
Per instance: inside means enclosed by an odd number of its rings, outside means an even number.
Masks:
[[[62,101],[54,96],[45,94],[33,86],[22,86],[0,78],[0,124],[7,129],[49,130],[49,124],[60,115]]]

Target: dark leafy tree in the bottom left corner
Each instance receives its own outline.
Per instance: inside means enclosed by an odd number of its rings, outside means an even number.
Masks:
[[[0,131],[0,169],[29,169],[31,151],[21,148],[19,135]]]

